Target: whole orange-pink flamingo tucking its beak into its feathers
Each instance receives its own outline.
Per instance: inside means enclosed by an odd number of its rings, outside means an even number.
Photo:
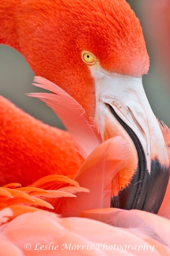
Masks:
[[[20,169],[4,175],[6,184],[2,179],[0,201],[3,255],[54,255],[56,250],[61,255],[68,250],[78,255],[89,251],[92,255],[110,255],[116,247],[113,236],[120,246],[114,251],[116,255],[143,255],[142,250],[146,250],[145,255],[153,251],[154,255],[168,255],[169,130],[165,125],[160,127],[142,87],[149,60],[139,20],[129,5],[116,0],[5,1],[0,7],[1,43],[20,51],[36,75],[45,77],[36,77],[36,86],[53,92],[30,96],[52,107],[75,141],[66,132],[48,132],[47,126],[10,106],[15,120],[23,118],[23,126],[28,118],[25,135],[31,137],[31,145],[45,134],[46,141],[55,134],[60,141],[63,138],[63,147],[70,145],[68,153],[54,144],[50,152],[58,150],[69,158],[72,169],[66,171],[63,165],[62,170],[57,164],[59,171],[54,175],[49,168],[56,156],[48,166],[44,150],[45,167],[38,167],[43,170],[42,176],[45,170],[48,176],[36,181],[41,169],[35,174],[35,163],[32,175],[23,177]],[[4,114],[2,119],[8,117]],[[33,127],[42,129],[40,137],[39,133],[34,135]],[[50,143],[46,143],[49,148]],[[41,145],[35,142],[34,153]],[[25,148],[28,154],[18,147],[18,155],[28,158],[30,170],[31,147],[27,150],[24,144]],[[7,159],[8,154],[9,150],[3,157]],[[26,187],[14,183],[18,177]],[[154,214],[158,212],[160,216]]]

